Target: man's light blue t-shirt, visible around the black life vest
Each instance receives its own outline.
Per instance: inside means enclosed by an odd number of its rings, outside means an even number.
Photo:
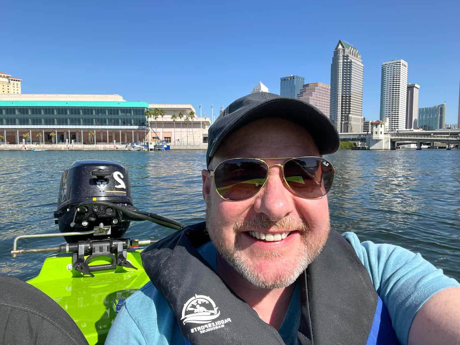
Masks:
[[[343,234],[369,272],[375,291],[385,303],[399,342],[408,343],[409,330],[421,306],[435,293],[460,284],[443,275],[423,259],[402,247],[359,242],[352,232]],[[216,248],[207,242],[198,253],[217,272]],[[278,333],[286,345],[296,345],[300,323],[300,288],[294,289],[286,316]],[[118,344],[184,344],[175,316],[166,299],[148,282],[126,301],[115,318],[105,341]]]

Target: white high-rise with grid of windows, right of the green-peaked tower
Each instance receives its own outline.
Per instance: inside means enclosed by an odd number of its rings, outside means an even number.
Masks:
[[[390,131],[406,128],[407,62],[402,59],[382,63],[380,121],[390,119]]]

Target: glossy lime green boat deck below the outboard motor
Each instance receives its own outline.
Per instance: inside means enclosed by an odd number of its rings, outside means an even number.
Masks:
[[[113,300],[127,298],[149,281],[140,251],[128,252],[127,260],[138,270],[117,267],[115,272],[92,272],[94,277],[82,277],[80,272],[71,268],[72,256],[52,255],[46,258],[40,274],[28,283],[67,311],[90,345],[104,344],[116,316]],[[93,260],[91,264],[107,264],[107,261]]]

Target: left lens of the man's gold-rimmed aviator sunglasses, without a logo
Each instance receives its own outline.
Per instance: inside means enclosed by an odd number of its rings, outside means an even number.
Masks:
[[[230,159],[220,163],[214,171],[214,183],[220,196],[238,201],[255,195],[267,178],[264,162],[251,159]]]

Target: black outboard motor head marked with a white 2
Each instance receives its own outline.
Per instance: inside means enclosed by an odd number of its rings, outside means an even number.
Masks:
[[[124,235],[130,221],[113,207],[97,205],[98,201],[137,211],[132,206],[127,170],[114,161],[74,161],[62,173],[54,217],[57,218],[59,231],[63,233],[98,231],[85,236],[64,236],[68,243],[108,237],[121,238]],[[78,207],[81,202],[89,202],[90,205]]]

